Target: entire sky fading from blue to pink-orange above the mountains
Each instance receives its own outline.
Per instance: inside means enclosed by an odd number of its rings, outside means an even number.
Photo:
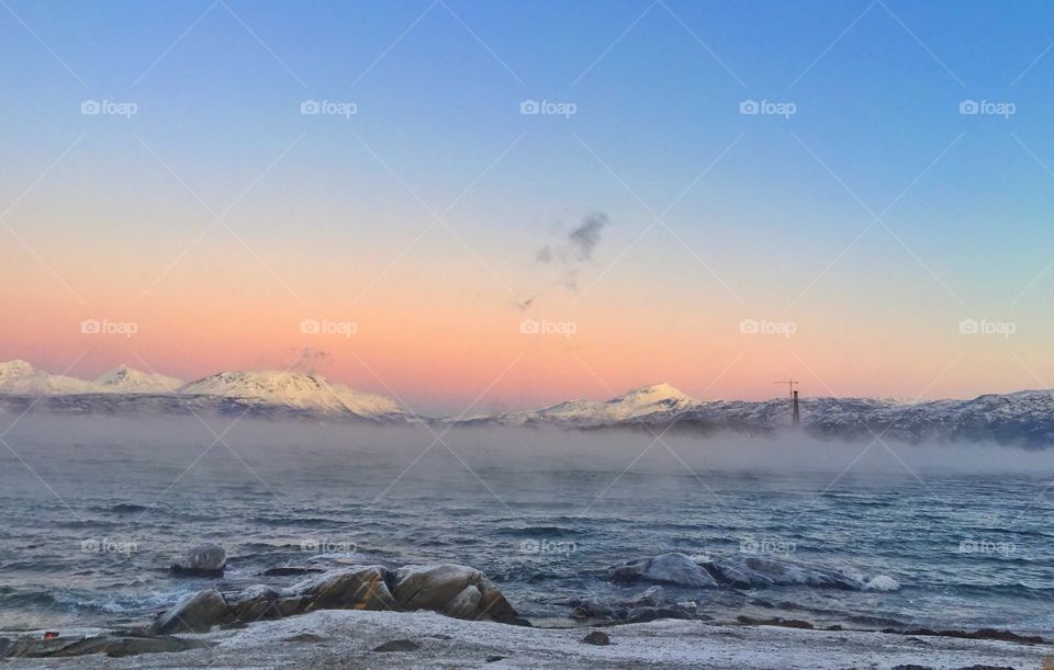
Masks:
[[[1052,44],[1045,2],[3,0],[0,359],[451,413],[1054,387]]]

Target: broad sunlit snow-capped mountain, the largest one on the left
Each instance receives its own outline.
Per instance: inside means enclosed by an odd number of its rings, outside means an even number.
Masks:
[[[176,389],[181,395],[220,396],[324,412],[360,417],[402,415],[386,396],[352,390],[325,377],[281,371],[222,372]]]

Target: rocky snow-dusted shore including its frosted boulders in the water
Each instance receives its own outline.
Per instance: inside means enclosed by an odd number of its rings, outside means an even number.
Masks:
[[[193,547],[173,578],[222,576],[221,547]],[[818,629],[807,621],[740,616],[716,624],[663,584],[715,589],[781,583],[896,588],[882,576],[819,570],[753,556],[683,554],[608,570],[641,590],[621,599],[569,598],[563,625],[534,627],[483,572],[458,565],[329,570],[284,566],[284,588],[255,584],[188,593],[147,625],[121,631],[0,634],[5,667],[745,667],[1039,668],[1054,659],[1040,637],[1005,631]],[[262,576],[261,576],[262,577]],[[892,582],[892,583],[890,583]],[[683,592],[683,591],[682,591]]]

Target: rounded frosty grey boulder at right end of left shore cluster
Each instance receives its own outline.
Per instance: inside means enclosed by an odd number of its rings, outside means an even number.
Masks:
[[[408,611],[431,610],[466,620],[523,623],[486,576],[466,566],[405,566],[395,570],[395,601]]]

